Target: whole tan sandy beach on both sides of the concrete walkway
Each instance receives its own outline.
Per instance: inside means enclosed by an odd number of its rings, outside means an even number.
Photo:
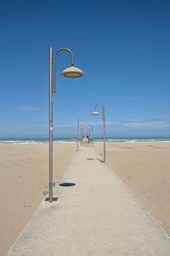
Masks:
[[[88,146],[88,145],[86,145]],[[76,153],[54,143],[54,181]],[[103,143],[94,143],[103,159]],[[106,161],[170,235],[170,143],[107,143]],[[0,144],[0,255],[48,193],[48,144]]]

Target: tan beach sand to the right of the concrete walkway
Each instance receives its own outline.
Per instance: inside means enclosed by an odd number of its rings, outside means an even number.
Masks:
[[[170,236],[170,143],[107,143],[106,162]]]

